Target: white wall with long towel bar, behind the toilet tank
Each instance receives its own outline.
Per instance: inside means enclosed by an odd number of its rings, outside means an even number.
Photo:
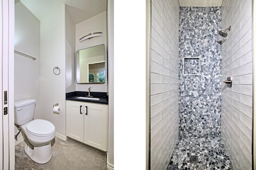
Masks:
[[[14,53],[14,101],[36,100],[34,119],[40,117],[40,21],[15,1],[14,50],[35,57],[33,61]],[[15,135],[18,130],[15,129]],[[18,136],[22,138],[22,135]]]

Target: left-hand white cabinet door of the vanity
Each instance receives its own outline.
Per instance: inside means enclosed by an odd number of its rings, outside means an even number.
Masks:
[[[84,142],[84,103],[67,101],[66,113],[67,136]]]

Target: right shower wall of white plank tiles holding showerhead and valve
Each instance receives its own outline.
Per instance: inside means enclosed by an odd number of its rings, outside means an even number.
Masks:
[[[223,0],[221,139],[235,170],[252,169],[252,0]]]

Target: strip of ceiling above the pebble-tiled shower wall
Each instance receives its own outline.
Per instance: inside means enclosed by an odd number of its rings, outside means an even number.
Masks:
[[[212,7],[221,6],[222,0],[179,0],[182,7]]]

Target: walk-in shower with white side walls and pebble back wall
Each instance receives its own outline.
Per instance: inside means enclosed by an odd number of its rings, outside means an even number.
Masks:
[[[152,1],[149,166],[251,170],[252,2],[178,8],[180,1]],[[228,87],[228,77],[238,83]]]

